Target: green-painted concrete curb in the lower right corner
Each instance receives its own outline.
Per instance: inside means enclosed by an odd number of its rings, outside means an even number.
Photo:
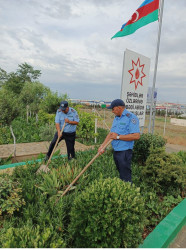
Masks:
[[[166,248],[186,225],[186,199],[180,202],[150,233],[139,248]]]

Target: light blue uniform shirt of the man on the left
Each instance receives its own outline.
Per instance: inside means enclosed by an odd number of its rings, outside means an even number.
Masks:
[[[79,122],[79,116],[75,109],[69,107],[69,111],[67,114],[63,113],[60,109],[58,109],[56,112],[55,123],[60,124],[60,129],[62,129],[66,118],[68,118],[70,121]],[[75,131],[76,131],[76,125],[66,123],[64,132],[73,133]]]

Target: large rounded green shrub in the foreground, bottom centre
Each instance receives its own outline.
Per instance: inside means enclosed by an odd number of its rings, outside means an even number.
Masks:
[[[139,188],[119,178],[96,180],[74,200],[73,247],[138,247],[145,225]]]

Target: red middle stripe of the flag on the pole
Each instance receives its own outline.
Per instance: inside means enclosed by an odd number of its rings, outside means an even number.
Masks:
[[[148,14],[157,10],[158,8],[159,8],[159,0],[154,0],[151,3],[142,6],[141,8],[136,10],[139,13],[139,18],[136,21],[138,21],[139,19],[141,19],[144,16],[147,16]],[[135,21],[136,17],[137,17],[136,13],[134,12],[134,14],[132,15],[132,20],[129,20],[126,23],[126,26],[133,23]]]

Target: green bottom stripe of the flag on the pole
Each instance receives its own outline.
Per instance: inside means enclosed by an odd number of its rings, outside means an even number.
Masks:
[[[135,23],[127,25],[123,29],[123,31],[117,32],[112,38],[130,35],[130,34],[134,33],[137,29],[141,28],[142,26],[145,26],[145,25],[152,23],[156,20],[158,20],[158,10],[155,10],[152,13],[150,13],[149,15],[142,17],[139,21],[137,21]]]

